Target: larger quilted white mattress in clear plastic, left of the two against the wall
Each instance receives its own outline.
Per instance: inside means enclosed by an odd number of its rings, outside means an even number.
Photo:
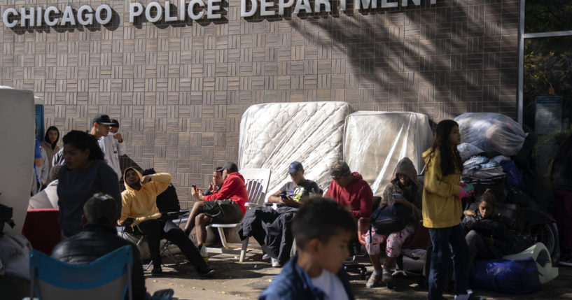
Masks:
[[[270,169],[267,194],[290,181],[288,165],[301,162],[306,178],[325,189],[330,166],[342,159],[345,102],[265,103],[249,107],[240,121],[239,169]]]

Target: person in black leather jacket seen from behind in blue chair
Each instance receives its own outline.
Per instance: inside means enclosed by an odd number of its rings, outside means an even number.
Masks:
[[[69,264],[89,264],[109,252],[130,245],[133,251],[133,299],[147,299],[143,266],[137,247],[117,236],[117,203],[107,194],[95,194],[83,205],[83,231],[58,243],[52,257]]]

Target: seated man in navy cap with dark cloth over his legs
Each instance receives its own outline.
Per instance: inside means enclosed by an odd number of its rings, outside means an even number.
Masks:
[[[239,231],[243,239],[246,236],[256,238],[274,267],[282,266],[290,259],[294,241],[291,224],[298,207],[308,197],[322,194],[316,182],[304,177],[300,162],[292,162],[288,173],[292,181],[268,197],[268,202],[277,203],[277,208],[266,206],[246,211]]]

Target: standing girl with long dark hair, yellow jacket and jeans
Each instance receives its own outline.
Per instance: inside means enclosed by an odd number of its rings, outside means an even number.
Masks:
[[[459,124],[443,120],[435,128],[433,144],[423,157],[426,163],[423,190],[423,224],[429,229],[433,251],[428,299],[443,299],[450,249],[453,251],[455,299],[473,299],[463,280],[468,249],[461,227],[461,198],[468,196],[461,184],[463,164],[456,145],[461,143]]]

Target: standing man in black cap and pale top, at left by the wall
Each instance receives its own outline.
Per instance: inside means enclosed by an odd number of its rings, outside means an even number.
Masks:
[[[104,152],[104,160],[106,164],[111,166],[113,171],[116,171],[117,178],[121,179],[123,174],[119,166],[119,158],[113,153],[114,137],[109,135],[111,125],[113,125],[113,122],[111,122],[109,115],[99,113],[92,118],[90,134],[95,136],[97,143],[99,143],[99,148]],[[121,137],[119,136],[119,138]],[[121,138],[120,143],[123,143],[123,138]]]

